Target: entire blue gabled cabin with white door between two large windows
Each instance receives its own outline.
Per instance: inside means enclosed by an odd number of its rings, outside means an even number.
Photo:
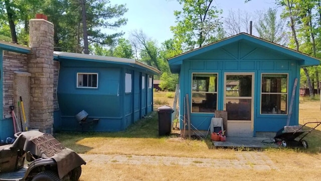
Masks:
[[[191,128],[209,129],[216,110],[227,111],[227,135],[275,135],[298,125],[300,67],[319,60],[278,44],[240,33],[169,59],[179,73],[180,118],[189,95]],[[181,121],[181,129],[183,122]]]

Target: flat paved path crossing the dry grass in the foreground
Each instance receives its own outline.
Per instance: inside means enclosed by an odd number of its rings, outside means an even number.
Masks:
[[[261,152],[235,153],[237,159],[186,158],[169,156],[137,156],[137,155],[103,155],[80,154],[86,162],[153,164],[153,165],[193,165],[200,167],[239,168],[270,170],[278,169],[273,161]]]

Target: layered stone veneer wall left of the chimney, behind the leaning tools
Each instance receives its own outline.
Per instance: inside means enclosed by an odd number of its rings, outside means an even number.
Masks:
[[[10,106],[15,106],[15,112],[19,116],[17,111],[17,103],[19,99],[14,99],[14,78],[15,71],[27,71],[27,55],[4,51],[3,58],[3,104],[4,104],[4,117],[11,117]]]

